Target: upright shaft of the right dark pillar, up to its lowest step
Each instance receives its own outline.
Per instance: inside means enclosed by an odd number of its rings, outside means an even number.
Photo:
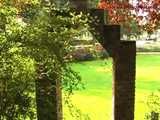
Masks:
[[[113,55],[114,120],[134,120],[135,41],[120,42]]]

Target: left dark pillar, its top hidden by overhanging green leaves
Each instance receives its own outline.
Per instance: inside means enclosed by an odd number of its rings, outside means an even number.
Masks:
[[[38,74],[36,80],[37,119],[62,120],[60,81],[54,74],[49,79],[43,65],[39,65]]]

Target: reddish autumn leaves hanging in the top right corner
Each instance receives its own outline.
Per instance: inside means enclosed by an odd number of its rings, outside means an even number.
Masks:
[[[108,11],[109,24],[120,24],[126,32],[133,31],[136,26],[152,33],[160,25],[160,0],[100,0],[98,8]]]

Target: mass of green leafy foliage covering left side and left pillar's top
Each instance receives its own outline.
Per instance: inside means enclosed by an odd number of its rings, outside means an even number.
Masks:
[[[1,4],[0,119],[33,120],[34,84],[39,77],[45,74],[51,83],[61,80],[69,95],[78,88],[81,78],[65,56],[70,41],[88,27],[86,15],[59,10],[52,2],[24,2],[21,9],[9,1]],[[37,72],[41,65],[45,73]]]

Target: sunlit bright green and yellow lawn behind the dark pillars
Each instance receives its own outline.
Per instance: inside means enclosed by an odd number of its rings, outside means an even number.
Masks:
[[[112,119],[112,62],[97,60],[72,64],[85,89],[76,91],[73,103],[91,120]],[[137,55],[135,120],[144,120],[147,96],[160,89],[160,55]],[[66,108],[65,114],[68,114]],[[126,113],[127,114],[127,113]],[[67,115],[66,120],[72,119]],[[82,118],[82,120],[85,120]]]

